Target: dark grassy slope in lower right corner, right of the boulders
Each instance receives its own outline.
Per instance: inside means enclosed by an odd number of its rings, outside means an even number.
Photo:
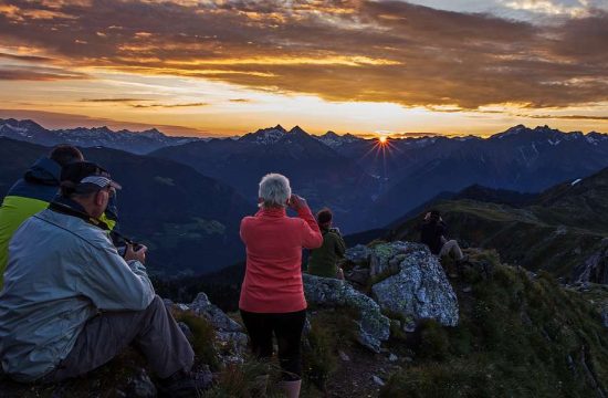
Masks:
[[[392,375],[381,397],[597,397],[608,385],[608,334],[597,312],[548,273],[530,279],[501,265],[492,279],[470,268],[459,280],[461,322],[445,328],[432,321],[408,335],[403,349],[416,359]],[[472,292],[462,294],[463,284]],[[599,386],[594,387],[594,383]]]

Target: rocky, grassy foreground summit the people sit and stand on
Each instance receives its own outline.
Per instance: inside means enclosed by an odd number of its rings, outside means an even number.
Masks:
[[[304,275],[302,397],[606,397],[608,291],[564,289],[547,273],[469,250],[460,274],[416,243],[357,245],[347,281]],[[448,272],[447,272],[448,271]],[[394,294],[395,300],[385,295]],[[165,300],[212,384],[203,397],[279,397],[277,365],[249,357],[237,313],[199,293]],[[3,397],[155,397],[154,375],[129,350],[59,385],[0,379]]]

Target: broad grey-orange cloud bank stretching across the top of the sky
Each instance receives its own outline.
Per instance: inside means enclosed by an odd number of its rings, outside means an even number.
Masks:
[[[608,100],[608,12],[590,8],[535,24],[403,1],[6,2],[1,40],[78,67],[439,109]],[[511,6],[532,3],[557,4]]]

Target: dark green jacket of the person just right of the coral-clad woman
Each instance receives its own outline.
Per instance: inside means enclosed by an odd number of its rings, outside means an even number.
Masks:
[[[325,230],[322,233],[323,244],[318,249],[311,250],[308,273],[323,277],[336,277],[338,272],[337,262],[344,258],[346,243],[344,243],[339,232]]]

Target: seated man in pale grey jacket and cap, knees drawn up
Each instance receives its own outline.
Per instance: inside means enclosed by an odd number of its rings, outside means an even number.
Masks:
[[[133,344],[161,391],[195,396],[193,352],[155,295],[146,248],[120,256],[98,221],[119,188],[95,164],[70,164],[61,196],[15,232],[0,293],[2,368],[18,381],[60,381]]]

